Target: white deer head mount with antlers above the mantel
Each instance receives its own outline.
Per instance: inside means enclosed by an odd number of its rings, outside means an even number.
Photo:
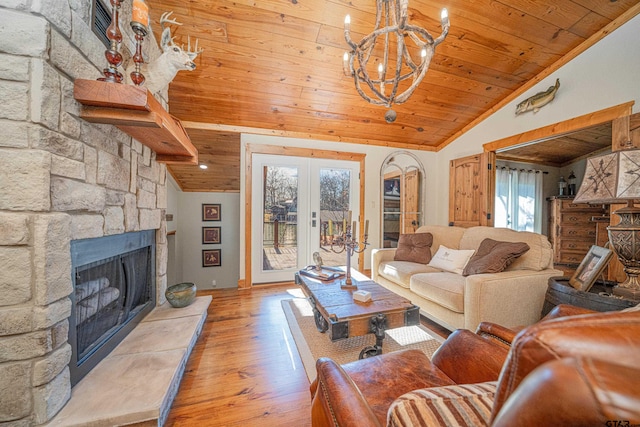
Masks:
[[[193,62],[196,57],[203,52],[204,49],[198,49],[198,39],[196,39],[195,47],[191,50],[191,37],[187,36],[187,49],[184,45],[178,46],[173,43],[175,37],[171,37],[171,27],[167,24],[182,25],[175,19],[169,19],[173,12],[165,12],[160,17],[160,25],[162,26],[162,36],[160,38],[160,47],[162,55],[148,64],[143,64],[141,72],[146,77],[144,86],[151,92],[156,93],[164,89],[174,79],[178,71],[196,69]],[[127,83],[132,83],[130,73],[135,67],[133,61],[126,70]]]

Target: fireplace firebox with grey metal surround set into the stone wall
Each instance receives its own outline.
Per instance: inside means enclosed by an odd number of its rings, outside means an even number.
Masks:
[[[155,231],[74,240],[71,263],[73,386],[155,307]]]

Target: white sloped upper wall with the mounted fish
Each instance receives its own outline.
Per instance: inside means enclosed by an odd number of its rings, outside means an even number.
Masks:
[[[556,78],[560,79],[560,89],[553,102],[537,113],[527,112],[515,116],[516,105],[519,102],[546,90],[555,83]],[[640,100],[640,15],[438,153],[436,223],[447,224],[448,222],[450,160],[481,153],[483,144],[497,139],[625,102],[636,101],[633,110],[637,112],[640,109],[638,100]]]

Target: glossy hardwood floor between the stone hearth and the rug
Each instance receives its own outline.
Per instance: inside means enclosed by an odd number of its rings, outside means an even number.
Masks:
[[[309,381],[280,305],[288,291],[300,292],[293,283],[199,292],[213,301],[167,426],[311,425]]]

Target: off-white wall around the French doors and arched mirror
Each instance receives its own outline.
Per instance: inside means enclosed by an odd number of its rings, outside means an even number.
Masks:
[[[246,144],[263,144],[300,148],[314,148],[319,150],[336,150],[342,152],[365,153],[365,196],[364,210],[365,219],[369,220],[369,241],[372,245],[365,251],[365,269],[371,266],[371,248],[379,246],[380,242],[380,167],[384,159],[392,152],[399,151],[397,148],[378,147],[361,144],[349,144],[344,142],[328,142],[319,140],[308,140],[298,138],[284,138],[275,136],[249,135],[243,134],[241,140],[241,152],[244,153]],[[431,185],[436,180],[436,153],[428,151],[415,151],[415,154],[425,168],[426,178],[426,212],[425,221],[431,223],[435,220],[435,210],[431,209],[432,201],[436,197],[436,192]],[[241,170],[245,170],[244,155],[241,158]],[[240,185],[240,253],[244,254],[245,222],[244,222],[244,179]],[[244,256],[240,257],[240,277],[244,278]]]

